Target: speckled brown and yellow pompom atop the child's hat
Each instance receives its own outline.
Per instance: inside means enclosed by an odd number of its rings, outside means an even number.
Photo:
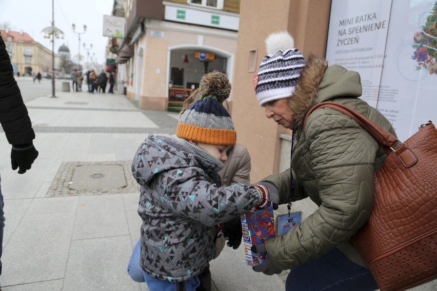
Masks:
[[[223,103],[231,93],[231,83],[226,74],[213,71],[205,74],[199,82],[201,98],[212,95],[218,102]]]

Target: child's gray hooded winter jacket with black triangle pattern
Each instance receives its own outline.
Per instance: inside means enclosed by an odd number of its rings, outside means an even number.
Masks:
[[[138,148],[132,174],[141,185],[140,262],[147,274],[171,282],[200,274],[214,256],[216,225],[260,203],[253,186],[218,187],[222,167],[176,136],[149,135]]]

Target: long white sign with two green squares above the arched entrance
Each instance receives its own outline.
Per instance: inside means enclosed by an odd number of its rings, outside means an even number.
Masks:
[[[165,20],[175,22],[218,27],[235,31],[238,30],[240,20],[239,15],[236,13],[218,11],[211,13],[204,10],[196,10],[195,8],[181,8],[177,4],[170,2],[165,4],[164,18]]]

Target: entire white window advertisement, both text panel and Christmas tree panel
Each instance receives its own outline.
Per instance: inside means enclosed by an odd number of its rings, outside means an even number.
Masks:
[[[332,1],[326,58],[360,73],[361,98],[401,140],[437,122],[436,26],[435,0]]]

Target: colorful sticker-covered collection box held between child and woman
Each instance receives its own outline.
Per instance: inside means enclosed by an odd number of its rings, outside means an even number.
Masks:
[[[266,254],[252,254],[250,247],[275,236],[273,206],[270,204],[268,207],[241,215],[241,225],[246,265],[259,265],[264,261]]]

